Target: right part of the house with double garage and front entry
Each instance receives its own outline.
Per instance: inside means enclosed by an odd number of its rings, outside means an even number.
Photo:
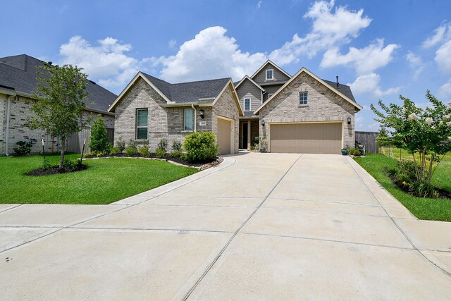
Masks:
[[[322,80],[306,68],[290,76],[266,61],[235,85],[244,116],[240,147],[268,152],[339,154],[354,146],[354,113],[362,109],[349,86]]]

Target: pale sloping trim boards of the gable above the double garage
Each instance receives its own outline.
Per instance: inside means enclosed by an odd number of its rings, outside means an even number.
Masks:
[[[356,111],[359,111],[362,109],[362,106],[357,104],[357,102],[355,102],[354,100],[345,96],[345,94],[342,94],[342,92],[335,90],[328,83],[324,82],[324,80],[321,80],[321,78],[317,77],[316,75],[314,75],[314,73],[311,73],[309,70],[307,70],[307,68],[302,67],[301,70],[299,70],[295,75],[293,75],[292,78],[290,78],[290,80],[288,80],[288,82],[285,82],[285,84],[280,88],[280,90],[278,90],[276,93],[274,93],[271,98],[269,98],[268,100],[266,100],[266,102],[264,102],[264,104],[261,104],[261,106],[259,106],[259,108],[256,111],[254,111],[254,114],[259,113],[259,111],[261,109],[263,109],[265,106],[267,106],[268,104],[270,104],[273,101],[273,99],[278,98],[281,93],[283,93],[283,92],[285,92],[285,90],[289,89],[290,85],[292,85],[293,82],[297,82],[297,80],[300,76],[309,76],[310,78],[315,80],[316,85],[318,85],[319,87],[321,86],[321,87],[325,88],[328,92],[332,92],[333,94],[336,94],[338,97],[340,97],[342,99],[343,102],[348,102],[349,104],[354,106],[354,109]],[[318,90],[318,89],[316,89],[316,90]]]

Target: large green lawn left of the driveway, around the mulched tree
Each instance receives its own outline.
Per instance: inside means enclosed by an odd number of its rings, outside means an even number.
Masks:
[[[79,158],[68,154],[67,159]],[[59,156],[46,156],[58,164]],[[42,156],[0,157],[0,204],[109,204],[190,176],[196,168],[142,159],[83,160],[85,171],[24,176],[42,166]]]

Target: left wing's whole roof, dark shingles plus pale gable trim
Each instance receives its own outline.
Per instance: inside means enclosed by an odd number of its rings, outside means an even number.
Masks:
[[[130,90],[138,78],[142,78],[157,93],[166,100],[167,106],[186,106],[196,104],[198,106],[213,106],[221,97],[228,86],[233,90],[233,98],[240,110],[242,109],[237,99],[237,93],[231,78],[218,78],[216,80],[198,80],[195,82],[180,82],[171,84],[152,75],[138,72],[135,77],[128,83],[127,87],[119,94],[116,100],[109,106],[109,111],[114,111],[116,105],[121,101],[122,97]]]

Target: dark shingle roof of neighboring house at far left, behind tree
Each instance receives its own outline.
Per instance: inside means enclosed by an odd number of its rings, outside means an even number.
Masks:
[[[41,64],[42,61],[26,54],[0,58],[0,89],[4,90],[1,86],[6,86],[25,97],[32,97],[38,81],[37,66]],[[89,94],[85,99],[87,109],[107,112],[116,99],[116,94],[91,80],[86,83],[86,92]]]

